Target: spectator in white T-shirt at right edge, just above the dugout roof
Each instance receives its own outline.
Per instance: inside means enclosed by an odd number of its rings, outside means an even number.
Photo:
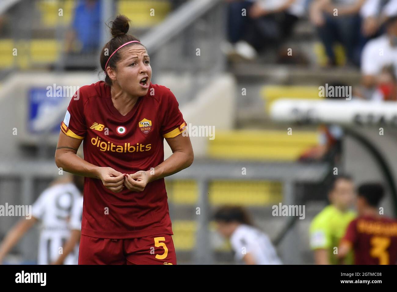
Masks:
[[[397,74],[397,15],[385,23],[386,33],[369,41],[361,56],[362,85],[367,90],[362,96],[372,96],[371,90],[378,85],[378,76],[385,66],[393,65]],[[382,78],[381,78],[382,79]]]

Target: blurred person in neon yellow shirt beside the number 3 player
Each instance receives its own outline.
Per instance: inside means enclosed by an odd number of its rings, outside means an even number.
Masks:
[[[331,204],[318,213],[310,225],[310,247],[314,250],[316,265],[338,263],[334,248],[339,246],[348,224],[356,217],[349,210],[354,197],[351,177],[339,174],[328,194]],[[353,264],[352,253],[347,256],[346,263]]]

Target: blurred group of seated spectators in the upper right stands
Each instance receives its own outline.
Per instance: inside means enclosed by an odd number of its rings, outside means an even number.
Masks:
[[[224,51],[254,60],[289,40],[299,19],[308,19],[326,54],[326,68],[340,64],[335,44],[343,46],[351,68],[360,68],[355,96],[397,100],[397,0],[225,0],[228,43]]]

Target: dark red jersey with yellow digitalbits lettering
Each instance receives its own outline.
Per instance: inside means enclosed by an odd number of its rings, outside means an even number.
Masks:
[[[183,132],[186,123],[173,93],[151,84],[133,109],[121,115],[103,81],[83,86],[67,108],[61,130],[83,139],[84,160],[133,174],[164,161],[164,137]],[[101,180],[85,178],[81,234],[97,238],[139,238],[173,234],[164,179],[142,192],[113,193]]]

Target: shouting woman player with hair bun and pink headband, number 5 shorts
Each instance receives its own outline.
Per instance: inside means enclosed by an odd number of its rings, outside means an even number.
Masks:
[[[83,86],[61,124],[58,167],[85,176],[79,264],[175,265],[164,177],[193,149],[170,89],[152,84],[148,52],[124,15],[102,48],[105,81]],[[164,161],[166,139],[173,154]],[[76,155],[83,142],[84,160]]]

